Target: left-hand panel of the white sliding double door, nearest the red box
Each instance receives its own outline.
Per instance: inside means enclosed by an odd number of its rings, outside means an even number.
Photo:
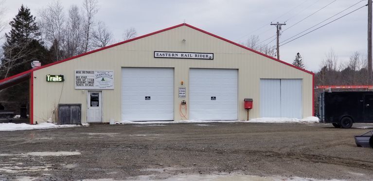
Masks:
[[[260,117],[281,117],[281,80],[260,80]]]

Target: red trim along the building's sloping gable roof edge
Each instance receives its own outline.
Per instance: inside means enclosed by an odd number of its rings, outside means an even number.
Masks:
[[[275,61],[277,61],[277,62],[280,62],[280,63],[282,63],[282,64],[285,64],[285,65],[287,65],[287,66],[291,66],[291,67],[293,67],[293,68],[297,68],[297,69],[299,69],[299,70],[302,70],[303,72],[306,72],[306,73],[309,73],[309,74],[311,74],[311,75],[314,75],[314,73],[311,72],[311,71],[308,71],[308,70],[302,69],[302,68],[300,68],[300,67],[298,67],[298,66],[293,66],[293,65],[291,65],[291,64],[289,64],[289,63],[286,63],[286,62],[284,62],[284,61],[278,60],[278,59],[276,59],[276,58],[273,58],[273,57],[271,57],[271,56],[268,56],[268,55],[266,55],[266,54],[264,54],[264,53],[261,53],[261,52],[259,52],[259,51],[256,51],[256,50],[253,50],[253,49],[250,49],[250,48],[245,47],[245,46],[243,46],[243,45],[240,45],[240,44],[238,44],[238,43],[232,42],[231,40],[228,40],[228,39],[225,39],[225,38],[223,38],[223,37],[217,36],[217,35],[215,35],[215,34],[213,34],[213,33],[206,32],[206,31],[201,30],[201,29],[199,29],[199,28],[196,28],[196,27],[194,27],[194,26],[192,26],[192,25],[189,25],[189,24],[186,24],[186,23],[182,23],[182,24],[178,24],[178,25],[176,25],[176,26],[172,26],[172,27],[169,27],[169,28],[166,28],[166,29],[163,29],[163,30],[157,31],[157,32],[153,32],[153,33],[145,34],[145,35],[142,35],[142,36],[139,36],[139,37],[136,37],[136,38],[132,38],[132,39],[129,39],[129,40],[126,40],[126,41],[123,41],[123,42],[119,42],[119,43],[116,43],[116,44],[113,44],[113,45],[110,45],[110,46],[107,46],[107,47],[104,47],[104,48],[101,48],[101,49],[95,49],[95,50],[92,50],[92,51],[89,51],[89,52],[86,52],[86,53],[83,53],[83,54],[80,54],[80,55],[76,55],[76,56],[73,56],[73,57],[70,57],[70,58],[67,58],[67,59],[64,59],[64,60],[60,60],[60,61],[57,61],[57,62],[53,62],[53,63],[51,63],[51,64],[47,64],[47,65],[45,65],[45,66],[40,66],[40,67],[37,67],[37,68],[34,68],[34,69],[30,69],[30,70],[27,70],[27,71],[25,71],[25,72],[19,73],[19,74],[17,74],[17,75],[14,75],[14,76],[11,76],[11,77],[8,77],[8,78],[5,78],[5,79],[3,79],[3,80],[0,80],[0,82],[4,82],[4,81],[10,80],[10,79],[13,79],[13,78],[15,78],[15,77],[21,76],[21,75],[23,75],[23,74],[30,73],[30,72],[33,72],[33,71],[35,71],[35,70],[42,69],[42,68],[45,68],[45,67],[48,67],[48,66],[53,66],[53,65],[55,65],[55,64],[59,64],[59,63],[62,63],[62,62],[66,62],[66,61],[69,61],[69,60],[72,60],[72,59],[75,59],[75,58],[78,58],[78,57],[82,57],[82,56],[84,56],[84,55],[88,55],[88,54],[91,54],[91,53],[94,53],[94,52],[97,52],[97,51],[101,51],[101,50],[104,50],[104,49],[109,49],[109,48],[112,48],[112,47],[115,47],[115,46],[118,46],[118,45],[122,45],[122,44],[124,44],[124,43],[128,43],[128,42],[131,42],[131,41],[134,41],[134,40],[138,40],[138,39],[141,39],[141,38],[144,38],[144,37],[147,37],[147,36],[153,35],[153,34],[157,34],[157,33],[161,33],[161,32],[165,32],[165,31],[171,30],[171,29],[175,29],[175,28],[178,28],[178,27],[180,27],[180,26],[187,26],[187,27],[193,28],[193,29],[195,29],[195,30],[197,30],[197,31],[200,31],[200,32],[202,32],[202,33],[209,34],[209,35],[211,35],[211,36],[213,36],[213,37],[219,38],[219,39],[221,39],[221,40],[223,40],[223,41],[226,41],[226,42],[231,43],[231,44],[233,44],[233,45],[236,45],[236,46],[238,46],[238,47],[241,47],[241,48],[244,48],[244,49],[248,49],[248,50],[250,50],[250,51],[252,51],[252,52],[258,53],[258,54],[260,54],[260,55],[263,55],[263,56],[265,56],[265,57],[267,57],[267,58],[270,58],[270,59],[272,59],[272,60],[275,60]]]

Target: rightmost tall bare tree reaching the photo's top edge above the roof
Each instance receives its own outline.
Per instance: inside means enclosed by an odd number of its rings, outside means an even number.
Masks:
[[[98,12],[97,0],[84,0],[83,1],[83,19],[84,19],[84,42],[83,50],[87,52],[90,49],[91,35],[94,26],[93,17]]]

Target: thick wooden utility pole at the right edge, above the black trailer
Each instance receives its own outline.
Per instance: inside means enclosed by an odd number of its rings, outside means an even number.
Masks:
[[[373,85],[372,82],[372,0],[368,0],[368,85]]]

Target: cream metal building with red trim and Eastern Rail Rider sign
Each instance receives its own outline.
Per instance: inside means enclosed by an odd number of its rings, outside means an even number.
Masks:
[[[30,80],[31,123],[58,122],[58,105],[69,104],[83,123],[246,120],[245,98],[253,99],[250,118],[312,116],[313,77],[183,23],[36,67],[0,87]]]

